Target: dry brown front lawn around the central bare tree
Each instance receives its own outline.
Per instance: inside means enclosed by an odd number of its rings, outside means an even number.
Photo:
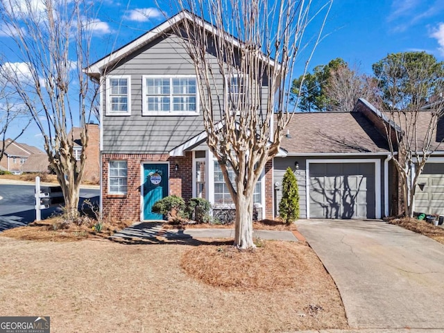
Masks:
[[[53,333],[347,327],[339,292],[308,246],[268,241],[255,252],[237,253],[221,242],[214,244],[124,245],[105,239],[37,242],[0,237],[0,314],[51,316]],[[239,255],[253,266],[242,271],[245,262]],[[206,256],[213,260],[194,263],[207,266],[207,271],[214,264],[221,266],[225,281],[250,274],[250,280],[262,282],[239,287],[238,280],[214,287],[182,268]],[[273,284],[279,286],[270,287]]]

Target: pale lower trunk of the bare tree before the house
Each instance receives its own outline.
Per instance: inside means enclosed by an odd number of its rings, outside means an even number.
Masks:
[[[241,249],[256,247],[253,243],[253,190],[251,192],[250,195],[237,192],[234,246]]]

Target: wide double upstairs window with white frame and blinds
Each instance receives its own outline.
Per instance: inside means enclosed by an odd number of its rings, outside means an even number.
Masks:
[[[145,115],[196,115],[196,76],[143,76],[142,96]]]

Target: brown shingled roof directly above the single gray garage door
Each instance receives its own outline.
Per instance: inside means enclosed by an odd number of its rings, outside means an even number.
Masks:
[[[386,139],[360,112],[298,112],[285,133],[281,147],[289,155],[389,151]]]

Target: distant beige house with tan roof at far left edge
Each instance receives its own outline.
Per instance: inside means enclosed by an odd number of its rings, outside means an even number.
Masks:
[[[1,148],[3,142],[0,142],[0,144]],[[11,173],[22,173],[24,171],[24,164],[31,155],[43,154],[37,147],[29,146],[28,144],[19,144],[18,142],[13,142],[12,139],[6,139],[4,144],[6,149],[0,161],[0,166]]]

